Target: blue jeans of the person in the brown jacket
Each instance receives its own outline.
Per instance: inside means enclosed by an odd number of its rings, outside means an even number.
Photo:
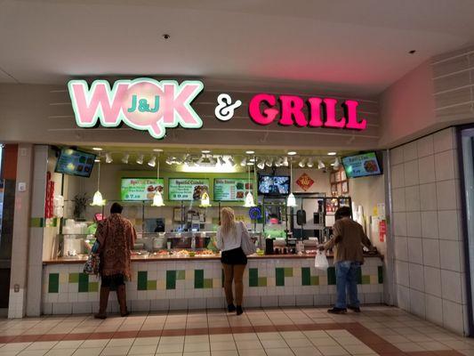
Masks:
[[[349,305],[358,307],[358,268],[360,263],[354,261],[336,262],[336,308],[347,308],[346,288],[349,294]]]

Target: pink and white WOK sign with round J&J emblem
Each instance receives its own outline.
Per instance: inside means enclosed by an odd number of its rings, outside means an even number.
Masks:
[[[122,122],[148,131],[157,139],[167,127],[200,128],[203,121],[191,102],[204,89],[198,80],[157,81],[150,78],[117,80],[110,88],[107,80],[95,80],[89,88],[84,80],[68,83],[76,123],[80,127],[116,127]]]

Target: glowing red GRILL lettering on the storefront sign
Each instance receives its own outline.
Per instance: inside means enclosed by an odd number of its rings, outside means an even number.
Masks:
[[[279,108],[277,109],[277,101]],[[296,95],[280,95],[260,93],[253,96],[248,105],[250,117],[259,125],[271,124],[278,114],[280,118],[279,125],[300,127],[330,127],[347,128],[352,130],[365,130],[367,126],[366,119],[358,120],[357,111],[358,101],[344,101],[345,116],[336,118],[335,99],[309,98],[306,101],[309,106],[309,117],[303,113],[305,101]],[[266,107],[262,109],[263,107]]]

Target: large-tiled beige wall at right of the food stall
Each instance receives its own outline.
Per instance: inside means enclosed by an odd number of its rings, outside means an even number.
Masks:
[[[467,332],[454,128],[390,150],[398,306]]]

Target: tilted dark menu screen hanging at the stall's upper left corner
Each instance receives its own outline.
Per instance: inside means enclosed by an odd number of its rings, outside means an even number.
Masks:
[[[54,172],[89,177],[96,155],[80,150],[62,149]]]

